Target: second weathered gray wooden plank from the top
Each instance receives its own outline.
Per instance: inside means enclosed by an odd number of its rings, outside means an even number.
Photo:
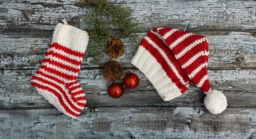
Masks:
[[[256,68],[256,38],[253,33],[225,31],[195,32],[209,37],[210,69]],[[47,45],[51,42],[52,31],[37,33],[5,33],[0,34],[0,69],[34,69],[40,65]],[[142,36],[145,33],[142,33]],[[90,47],[90,46],[89,46]],[[126,52],[118,60],[127,67],[133,58],[134,46],[126,42]],[[104,56],[100,65],[109,60]],[[82,68],[99,67],[92,63],[93,58],[86,56]]]

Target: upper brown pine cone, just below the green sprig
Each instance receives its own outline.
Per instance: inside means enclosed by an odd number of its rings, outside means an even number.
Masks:
[[[118,58],[119,56],[122,56],[124,49],[124,44],[120,39],[112,38],[112,40],[107,43],[106,50],[110,58]]]

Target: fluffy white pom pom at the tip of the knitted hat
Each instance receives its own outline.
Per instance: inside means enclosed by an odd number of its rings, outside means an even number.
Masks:
[[[222,92],[212,90],[204,98],[204,106],[213,114],[222,113],[227,108],[227,98]]]

